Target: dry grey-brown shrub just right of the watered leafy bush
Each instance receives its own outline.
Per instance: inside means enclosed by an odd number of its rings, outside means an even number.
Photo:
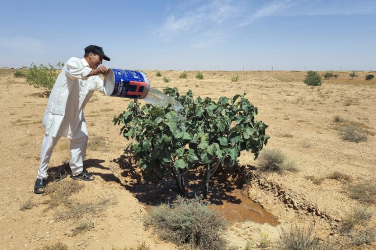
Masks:
[[[271,172],[297,171],[295,163],[288,161],[280,149],[264,149],[258,157],[258,167],[262,171]]]

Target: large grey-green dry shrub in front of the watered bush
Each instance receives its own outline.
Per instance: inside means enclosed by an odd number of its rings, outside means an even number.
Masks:
[[[145,218],[162,240],[177,245],[188,244],[200,250],[226,250],[222,232],[226,220],[200,198],[177,198],[172,204],[154,207]]]

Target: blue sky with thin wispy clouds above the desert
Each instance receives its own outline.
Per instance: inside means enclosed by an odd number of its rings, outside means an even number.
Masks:
[[[376,0],[12,0],[0,67],[100,45],[120,69],[376,70]]]

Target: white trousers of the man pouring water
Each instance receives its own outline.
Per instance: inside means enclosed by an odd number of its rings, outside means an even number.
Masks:
[[[60,136],[53,137],[45,134],[41,150],[41,164],[38,168],[37,179],[47,179],[47,167],[49,159],[51,158],[53,148],[56,146]],[[77,139],[70,139],[71,142],[71,167],[72,175],[77,175],[84,170],[84,157],[86,154],[86,147],[88,146],[89,137],[82,136]]]

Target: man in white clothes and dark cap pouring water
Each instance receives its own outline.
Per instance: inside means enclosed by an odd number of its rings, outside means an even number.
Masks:
[[[98,67],[103,60],[110,61],[110,58],[102,47],[89,45],[85,48],[84,58],[69,59],[57,77],[43,117],[45,137],[34,193],[45,192],[47,166],[53,147],[61,136],[69,138],[71,143],[71,178],[94,181],[94,176],[83,169],[89,139],[83,111],[94,90],[104,93],[99,75],[107,75],[108,69],[103,65]]]

